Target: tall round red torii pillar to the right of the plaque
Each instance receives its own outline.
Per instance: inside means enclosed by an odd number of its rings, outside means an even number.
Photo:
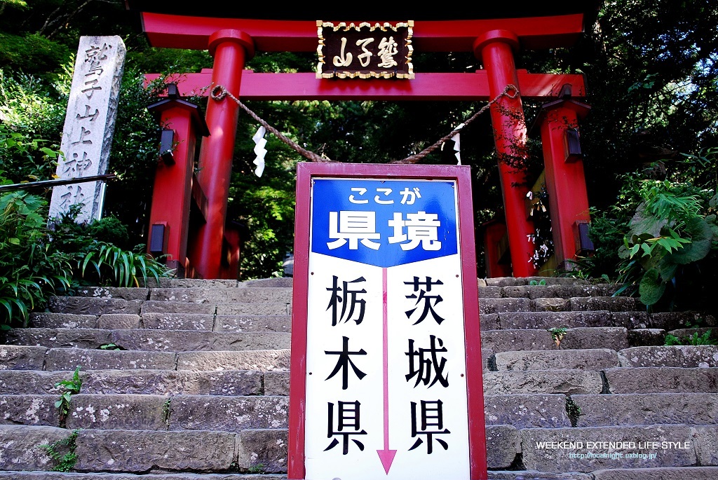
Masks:
[[[482,59],[488,72],[489,93],[492,98],[503,92],[507,85],[518,84],[512,51],[518,47],[516,36],[509,31],[488,32],[477,39],[475,47],[476,55]],[[533,256],[533,243],[528,240],[528,235],[532,235],[534,229],[533,223],[526,218],[524,206],[528,192],[526,174],[502,161],[505,157],[513,157],[514,160],[526,158],[526,121],[521,98],[503,97],[492,105],[490,113],[499,157],[498,168],[513,276],[533,276],[536,273],[536,268],[530,261]]]

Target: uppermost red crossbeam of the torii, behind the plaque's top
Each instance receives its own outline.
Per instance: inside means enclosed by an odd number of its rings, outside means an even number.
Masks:
[[[236,29],[249,34],[257,50],[264,52],[317,50],[317,24],[311,21],[223,19],[149,12],[141,15],[144,32],[153,47],[205,50],[211,34],[220,29]],[[364,21],[366,19],[355,19],[357,23]],[[514,19],[417,20],[414,22],[412,42],[416,50],[424,52],[471,52],[476,37],[496,29],[511,30],[521,40],[521,47],[526,49],[567,47],[583,32],[583,14]]]

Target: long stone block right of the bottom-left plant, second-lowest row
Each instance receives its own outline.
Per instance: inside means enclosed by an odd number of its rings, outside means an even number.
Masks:
[[[235,458],[235,433],[80,430],[79,471],[224,471]]]

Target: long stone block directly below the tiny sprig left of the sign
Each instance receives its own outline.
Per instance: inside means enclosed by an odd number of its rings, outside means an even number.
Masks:
[[[174,352],[130,350],[50,349],[47,370],[174,370]]]

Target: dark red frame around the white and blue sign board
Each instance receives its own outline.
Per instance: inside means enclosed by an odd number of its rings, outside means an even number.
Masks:
[[[470,479],[486,480],[486,440],[479,324],[476,250],[469,166],[297,164],[297,207],[294,231],[294,293],[292,298],[292,360],[289,381],[289,456],[287,477],[304,479],[304,423],[307,375],[307,292],[309,288],[309,221],[313,177],[448,179],[457,182],[461,237],[464,331],[469,419]]]

